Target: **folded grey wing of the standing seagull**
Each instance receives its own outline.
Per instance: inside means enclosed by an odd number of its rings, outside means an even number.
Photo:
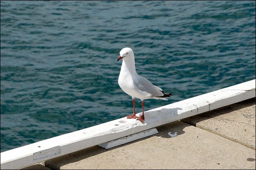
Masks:
[[[136,86],[140,91],[145,91],[148,94],[151,94],[151,96],[150,96],[151,98],[157,97],[157,96],[163,96],[163,93],[160,91],[160,90],[162,90],[161,88],[153,85],[150,81],[148,81],[148,79],[146,79],[140,75],[138,77]]]

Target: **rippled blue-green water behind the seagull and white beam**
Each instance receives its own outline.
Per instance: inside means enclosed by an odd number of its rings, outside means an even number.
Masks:
[[[255,79],[255,1],[0,5],[1,152],[131,114],[117,83],[124,47],[174,94],[145,110]]]

